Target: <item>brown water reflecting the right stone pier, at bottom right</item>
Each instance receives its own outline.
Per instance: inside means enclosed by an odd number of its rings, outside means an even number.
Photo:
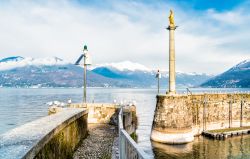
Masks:
[[[152,142],[155,158],[217,159],[250,158],[250,135],[228,138],[225,141],[196,137],[185,145],[166,145]]]

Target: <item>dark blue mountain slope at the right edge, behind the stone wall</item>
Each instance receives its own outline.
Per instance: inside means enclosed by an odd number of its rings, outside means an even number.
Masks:
[[[216,88],[250,88],[250,60],[242,61],[228,71],[201,84],[201,86]]]

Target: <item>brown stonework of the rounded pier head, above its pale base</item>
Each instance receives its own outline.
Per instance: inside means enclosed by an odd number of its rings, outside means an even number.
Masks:
[[[192,107],[187,96],[158,96],[153,129],[161,132],[186,132],[192,129]]]

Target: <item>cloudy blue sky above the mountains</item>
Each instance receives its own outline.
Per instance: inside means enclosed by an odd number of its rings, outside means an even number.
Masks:
[[[241,0],[3,0],[0,58],[74,62],[87,44],[94,64],[129,60],[167,70],[173,9],[177,70],[218,74],[250,59],[249,7]]]

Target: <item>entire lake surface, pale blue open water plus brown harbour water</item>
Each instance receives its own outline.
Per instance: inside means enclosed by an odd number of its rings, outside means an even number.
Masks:
[[[178,90],[185,92],[185,89]],[[235,92],[250,89],[191,89],[193,92]],[[138,144],[155,158],[181,159],[250,159],[250,135],[229,138],[225,141],[196,137],[193,143],[185,145],[165,145],[150,141],[157,91],[155,89],[110,89],[89,88],[89,102],[118,103],[136,101],[139,125]],[[161,90],[165,93],[165,90]],[[82,89],[16,89],[0,88],[0,134],[34,119],[46,116],[47,102],[82,101]]]

